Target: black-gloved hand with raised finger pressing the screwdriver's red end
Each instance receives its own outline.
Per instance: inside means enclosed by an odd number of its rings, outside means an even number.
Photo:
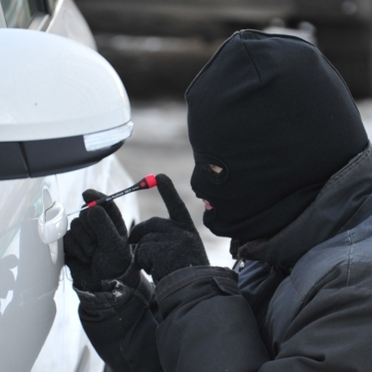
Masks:
[[[129,235],[129,243],[137,244],[135,264],[154,283],[183,267],[209,265],[198,231],[172,181],[165,174],[158,174],[156,180],[170,218],[150,218]]]

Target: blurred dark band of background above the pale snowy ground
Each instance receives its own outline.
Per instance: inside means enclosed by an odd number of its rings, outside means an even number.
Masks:
[[[184,91],[243,28],[312,33],[355,97],[372,93],[371,0],[76,0],[131,96]],[[278,28],[275,28],[278,30]],[[280,29],[279,29],[280,31]],[[115,35],[115,36],[113,36]],[[145,84],[145,85],[144,85]]]

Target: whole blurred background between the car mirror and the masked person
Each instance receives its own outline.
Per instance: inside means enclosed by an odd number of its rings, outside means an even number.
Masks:
[[[231,266],[229,240],[202,225],[190,189],[193,158],[183,95],[219,45],[244,28],[291,33],[317,45],[339,70],[369,131],[372,0],[75,0],[98,51],[121,76],[132,104],[132,137],[119,158],[135,181],[166,173],[201,232],[212,264]],[[138,193],[141,218],[166,217],[157,190]]]

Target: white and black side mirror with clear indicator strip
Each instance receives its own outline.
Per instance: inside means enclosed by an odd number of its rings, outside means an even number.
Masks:
[[[0,29],[0,180],[96,163],[132,133],[125,87],[100,54],[63,36]]]

